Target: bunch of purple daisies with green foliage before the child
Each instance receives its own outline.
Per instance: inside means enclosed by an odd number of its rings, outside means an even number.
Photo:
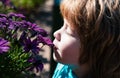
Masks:
[[[45,30],[25,20],[22,14],[0,14],[0,73],[14,76],[43,69],[39,55],[44,45],[53,46]]]

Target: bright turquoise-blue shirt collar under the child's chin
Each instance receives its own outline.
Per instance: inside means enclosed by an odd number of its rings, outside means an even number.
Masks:
[[[52,78],[78,78],[78,77],[72,72],[72,69],[70,68],[69,65],[58,63]]]

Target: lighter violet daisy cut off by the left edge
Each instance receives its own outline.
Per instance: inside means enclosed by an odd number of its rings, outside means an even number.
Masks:
[[[0,38],[0,53],[7,52],[9,48],[10,48],[9,42],[7,40]]]

